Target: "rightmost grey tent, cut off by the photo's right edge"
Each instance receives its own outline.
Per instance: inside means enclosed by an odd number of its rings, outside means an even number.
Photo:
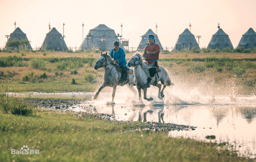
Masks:
[[[244,46],[245,49],[253,49],[256,47],[256,33],[250,28],[246,33],[243,34],[238,47]]]

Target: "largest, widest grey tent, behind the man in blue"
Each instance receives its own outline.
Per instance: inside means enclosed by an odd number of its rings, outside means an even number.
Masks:
[[[99,24],[89,30],[86,38],[82,42],[80,49],[99,49],[101,51],[111,50],[113,43],[118,41],[115,30],[108,28],[104,24]]]

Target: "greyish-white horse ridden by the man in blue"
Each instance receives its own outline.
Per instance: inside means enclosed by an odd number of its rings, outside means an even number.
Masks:
[[[112,92],[112,102],[114,102],[114,97],[116,93],[116,86],[123,86],[121,83],[119,83],[119,80],[121,78],[121,72],[118,72],[116,68],[114,67],[115,64],[112,62],[112,58],[110,55],[107,54],[102,54],[98,58],[97,62],[94,64],[94,69],[98,70],[98,68],[104,68],[105,73],[104,73],[104,82],[102,86],[99,88],[98,92],[96,92],[94,99],[96,99],[100,93],[100,91],[106,87],[113,87],[113,92]],[[132,74],[128,74],[128,80],[124,82],[124,85],[128,84],[128,88],[136,94],[136,91],[133,88],[134,84],[134,73],[133,70],[131,69]]]

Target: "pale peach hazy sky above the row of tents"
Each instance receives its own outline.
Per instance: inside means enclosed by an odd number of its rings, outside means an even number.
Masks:
[[[0,0],[0,47],[16,27],[27,35],[32,48],[42,46],[48,24],[63,34],[68,47],[79,48],[89,30],[105,24],[138,47],[148,29],[156,33],[165,48],[174,47],[191,23],[191,33],[202,36],[199,46],[207,47],[220,28],[234,48],[249,28],[256,32],[256,0]],[[196,38],[198,41],[198,39]]]

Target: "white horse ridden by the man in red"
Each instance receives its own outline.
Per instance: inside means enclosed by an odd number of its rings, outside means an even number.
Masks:
[[[148,77],[149,77],[149,69],[152,68],[153,66],[142,62],[142,56],[139,52],[134,53],[134,55],[130,58],[131,59],[127,63],[127,66],[134,67],[134,75],[135,75],[134,83],[136,84],[139,92],[139,100],[141,100],[141,89],[143,89],[145,100],[148,100],[148,101],[153,100],[152,97],[147,98],[147,88],[146,88],[146,83],[148,82]],[[158,75],[156,74],[152,78],[150,85],[158,87],[159,89],[158,98],[162,99],[162,97],[164,97],[164,88],[166,88],[166,86],[172,86],[173,84],[169,78],[167,71],[162,66],[159,66],[159,68],[161,71],[157,73]],[[162,85],[158,83],[159,81],[161,81],[161,84],[164,85],[162,91],[161,91]]]

